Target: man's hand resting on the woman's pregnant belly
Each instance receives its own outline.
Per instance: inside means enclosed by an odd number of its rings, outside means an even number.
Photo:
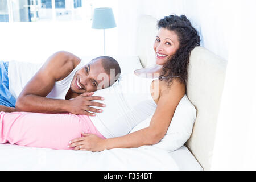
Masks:
[[[85,114],[89,116],[95,116],[94,113],[102,113],[101,109],[96,109],[90,106],[105,107],[105,104],[99,102],[93,102],[93,100],[104,100],[103,97],[92,96],[93,92],[86,92],[77,96],[73,100],[70,100],[69,113],[72,114]]]

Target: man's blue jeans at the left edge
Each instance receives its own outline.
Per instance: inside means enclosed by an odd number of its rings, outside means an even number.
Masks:
[[[9,62],[0,61],[0,105],[15,107],[16,99],[9,91],[8,65]]]

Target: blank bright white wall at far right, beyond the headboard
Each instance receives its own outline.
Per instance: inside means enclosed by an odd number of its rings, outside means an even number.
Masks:
[[[255,170],[256,166],[256,1],[233,4],[237,22],[216,128],[213,170]]]

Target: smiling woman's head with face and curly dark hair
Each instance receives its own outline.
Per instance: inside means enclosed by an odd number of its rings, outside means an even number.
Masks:
[[[158,28],[154,50],[156,64],[163,65],[159,78],[171,82],[179,76],[185,83],[190,53],[200,46],[198,32],[185,15],[165,16],[158,21]]]

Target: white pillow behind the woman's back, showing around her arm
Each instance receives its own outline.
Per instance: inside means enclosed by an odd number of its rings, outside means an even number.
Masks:
[[[135,126],[130,133],[148,127],[152,116],[153,115]],[[189,101],[188,97],[184,95],[177,105],[166,135],[164,135],[159,143],[154,144],[154,146],[167,150],[168,152],[177,150],[189,139],[195,120],[196,109],[191,101]]]

